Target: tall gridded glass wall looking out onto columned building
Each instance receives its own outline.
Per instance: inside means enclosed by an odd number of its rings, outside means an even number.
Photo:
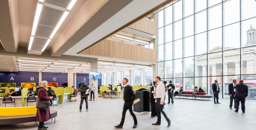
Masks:
[[[207,94],[217,79],[224,99],[228,84],[243,79],[247,100],[256,100],[255,7],[255,0],[180,0],[159,10],[158,75]]]

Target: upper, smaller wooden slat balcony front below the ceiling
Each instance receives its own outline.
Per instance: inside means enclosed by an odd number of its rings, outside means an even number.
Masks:
[[[152,21],[147,18],[140,19],[138,22],[128,26],[129,28],[133,28],[136,30],[144,31],[149,34],[156,35],[157,24],[155,21]]]

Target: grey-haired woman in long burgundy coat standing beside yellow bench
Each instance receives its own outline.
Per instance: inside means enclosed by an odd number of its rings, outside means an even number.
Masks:
[[[46,88],[48,87],[47,81],[41,81],[38,86],[40,89],[38,90],[38,100],[43,100],[49,102],[52,99],[52,96],[48,96]],[[37,109],[36,114],[36,122],[39,122],[38,130],[47,130],[47,126],[44,125],[44,122],[48,121],[52,117],[50,116],[50,107],[47,108],[46,111]]]

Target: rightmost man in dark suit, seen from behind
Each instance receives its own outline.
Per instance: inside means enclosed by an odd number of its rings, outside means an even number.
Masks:
[[[238,112],[239,104],[241,101],[242,106],[242,112],[245,113],[245,98],[248,96],[248,86],[244,84],[243,80],[239,81],[239,84],[237,84],[235,87],[236,89],[236,110],[235,112]]]

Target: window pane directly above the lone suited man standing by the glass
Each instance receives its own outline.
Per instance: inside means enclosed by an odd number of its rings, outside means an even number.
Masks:
[[[222,75],[222,52],[208,54],[210,76]],[[214,81],[213,81],[214,82]]]

